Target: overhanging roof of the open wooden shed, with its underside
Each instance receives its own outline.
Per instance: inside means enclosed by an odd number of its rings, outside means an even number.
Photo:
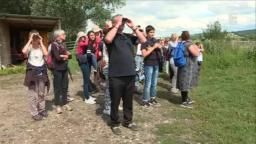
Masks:
[[[12,27],[22,30],[46,30],[51,31],[60,25],[61,17],[30,16],[19,14],[0,13],[0,20],[5,20]]]

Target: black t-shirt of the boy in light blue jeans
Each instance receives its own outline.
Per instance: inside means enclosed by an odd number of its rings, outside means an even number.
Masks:
[[[152,40],[150,40],[150,41],[153,43]],[[155,44],[155,43],[153,43],[153,44]],[[149,48],[151,48],[151,46],[148,43],[141,44],[141,50],[148,51]],[[144,66],[157,66],[158,65],[157,51],[158,51],[158,49],[156,48],[154,51],[152,51],[152,53],[150,53],[148,56],[146,56],[144,58]]]

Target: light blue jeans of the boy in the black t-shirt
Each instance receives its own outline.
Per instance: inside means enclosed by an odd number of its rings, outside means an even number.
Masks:
[[[157,66],[145,66],[145,85],[143,91],[143,100],[147,101],[149,97],[155,98],[157,95],[157,76],[158,76],[158,65]]]

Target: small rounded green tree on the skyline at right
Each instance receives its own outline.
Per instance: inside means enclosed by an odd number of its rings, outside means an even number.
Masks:
[[[207,24],[207,28],[203,29],[203,36],[208,40],[224,40],[228,38],[227,30],[221,30],[221,24],[219,21],[215,21],[214,23]]]

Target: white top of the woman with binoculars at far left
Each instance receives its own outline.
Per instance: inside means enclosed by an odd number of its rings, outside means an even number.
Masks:
[[[44,64],[43,51],[41,46],[35,50],[32,48],[32,45],[29,45],[27,56],[29,56],[28,63],[35,67],[41,67]]]

